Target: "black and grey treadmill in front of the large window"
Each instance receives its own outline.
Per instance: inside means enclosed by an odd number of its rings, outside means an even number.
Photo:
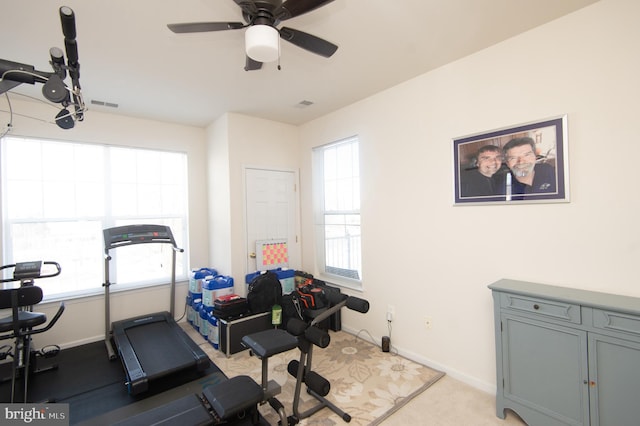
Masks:
[[[127,376],[127,390],[137,395],[153,380],[185,370],[202,372],[210,365],[207,354],[174,320],[176,246],[171,229],[162,225],[128,225],[103,230],[105,243],[105,345],[110,360],[120,357]],[[170,312],[141,315],[110,324],[110,250],[133,244],[170,244],[172,247]],[[111,325],[111,327],[110,327]],[[115,344],[114,350],[111,341]]]

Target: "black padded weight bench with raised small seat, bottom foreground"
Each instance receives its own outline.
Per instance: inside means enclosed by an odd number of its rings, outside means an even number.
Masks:
[[[262,360],[262,385],[249,376],[236,376],[207,386],[202,396],[191,394],[163,406],[129,417],[119,426],[153,425],[215,425],[247,419],[260,423],[258,404],[269,403],[287,424],[283,405],[276,399],[280,385],[268,379],[268,362],[273,355],[294,349],[298,339],[284,330],[269,329],[242,338],[242,343]]]

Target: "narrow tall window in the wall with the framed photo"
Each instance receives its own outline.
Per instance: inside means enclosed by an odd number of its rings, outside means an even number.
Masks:
[[[361,288],[360,156],[357,137],[314,149],[317,262],[336,284]]]

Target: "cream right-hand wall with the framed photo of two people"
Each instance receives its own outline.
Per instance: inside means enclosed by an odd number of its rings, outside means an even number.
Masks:
[[[311,271],[310,150],[360,136],[361,296],[371,311],[345,312],[345,328],[378,339],[393,305],[401,353],[495,391],[488,284],[513,278],[640,297],[639,16],[636,0],[602,0],[301,126]],[[453,138],[562,114],[570,203],[452,205]]]

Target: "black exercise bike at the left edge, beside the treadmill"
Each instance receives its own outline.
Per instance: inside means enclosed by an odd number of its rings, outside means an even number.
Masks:
[[[43,265],[52,265],[55,270],[52,272],[42,272]],[[0,271],[13,268],[11,278],[0,279],[0,283],[19,282],[18,287],[3,285],[0,290],[0,309],[11,309],[11,315],[0,318],[0,340],[14,339],[13,345],[0,347],[0,360],[7,357],[13,358],[13,368],[11,373],[11,402],[27,402],[27,387],[29,375],[56,369],[57,365],[47,368],[37,368],[37,358],[52,358],[60,352],[60,347],[50,345],[39,351],[31,347],[31,336],[44,333],[55,325],[62,312],[64,312],[64,302],[60,303],[58,311],[49,323],[42,328],[34,329],[47,322],[47,316],[41,312],[33,312],[33,305],[42,301],[42,289],[34,285],[34,280],[41,278],[51,278],[60,275],[60,265],[56,262],[21,262],[13,265],[0,267]],[[9,287],[9,288],[7,288]],[[18,379],[22,378],[23,398],[16,401],[16,387]],[[8,381],[6,378],[2,381]]]

